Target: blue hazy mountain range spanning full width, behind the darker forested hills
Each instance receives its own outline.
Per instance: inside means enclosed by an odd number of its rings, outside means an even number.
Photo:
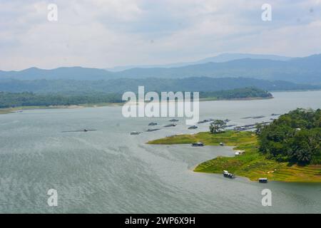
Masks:
[[[0,71],[0,78],[107,80],[111,78],[211,78],[243,77],[270,81],[321,84],[321,54],[288,61],[242,58],[223,63],[200,63],[173,68],[132,68],[110,72],[97,68],[64,67],[53,70],[29,68],[24,71]]]

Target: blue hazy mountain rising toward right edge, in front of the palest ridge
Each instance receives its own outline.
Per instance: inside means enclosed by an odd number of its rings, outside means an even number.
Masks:
[[[289,61],[243,58],[223,63],[201,63],[178,68],[133,68],[116,72],[119,78],[245,77],[295,83],[321,83],[321,55]]]

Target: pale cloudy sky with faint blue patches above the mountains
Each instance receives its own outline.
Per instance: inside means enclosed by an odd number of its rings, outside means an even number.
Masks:
[[[57,21],[49,21],[49,4]],[[263,4],[272,20],[263,21]],[[51,14],[52,15],[52,14]],[[0,0],[0,70],[321,53],[321,0]]]

